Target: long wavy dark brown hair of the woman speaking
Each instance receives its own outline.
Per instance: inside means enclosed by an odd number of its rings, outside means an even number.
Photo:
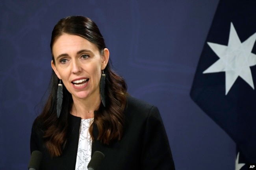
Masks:
[[[52,31],[52,39],[50,48],[56,39],[63,35],[63,33],[70,35],[78,35],[94,43],[100,53],[106,48],[104,38],[102,37],[98,26],[91,19],[84,16],[68,16],[59,20]],[[52,54],[52,60],[54,56]],[[102,104],[94,115],[94,123],[90,126],[89,132],[93,141],[99,140],[104,144],[110,144],[111,141],[121,139],[124,125],[123,110],[126,105],[126,90],[127,86],[122,77],[117,75],[110,67],[111,61],[108,62],[104,73],[106,73],[106,107]],[[50,94],[43,108],[43,111],[37,122],[41,122],[44,131],[44,142],[46,148],[52,157],[59,156],[65,148],[67,141],[67,130],[69,126],[69,114],[72,108],[72,96],[63,86],[63,103],[60,117],[57,118],[56,113],[56,97],[59,79],[52,71],[49,90]],[[92,134],[93,126],[98,128],[98,136]],[[96,139],[95,139],[96,138]]]

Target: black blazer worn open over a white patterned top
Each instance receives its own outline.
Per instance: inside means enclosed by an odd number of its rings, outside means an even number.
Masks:
[[[105,155],[98,170],[174,170],[169,141],[158,108],[129,96],[124,115],[126,126],[120,141],[111,145],[93,142],[92,155],[95,151]],[[33,123],[30,150],[43,153],[40,170],[75,169],[81,118],[70,114],[70,122],[71,128],[63,154],[54,158],[50,157],[44,147],[43,132]],[[94,125],[95,139],[97,133]]]

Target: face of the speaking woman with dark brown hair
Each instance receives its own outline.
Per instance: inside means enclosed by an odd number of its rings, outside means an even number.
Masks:
[[[77,35],[63,34],[54,42],[52,68],[73,98],[100,99],[100,77],[109,58],[108,49],[103,52]]]

